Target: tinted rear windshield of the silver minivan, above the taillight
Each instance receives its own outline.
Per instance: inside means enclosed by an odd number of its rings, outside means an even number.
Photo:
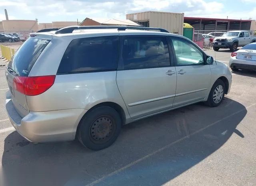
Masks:
[[[8,64],[8,69],[18,76],[28,76],[39,55],[50,40],[28,38]]]

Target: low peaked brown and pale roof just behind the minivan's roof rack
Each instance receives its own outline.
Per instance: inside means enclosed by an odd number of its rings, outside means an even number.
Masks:
[[[131,20],[109,19],[109,18],[85,18],[80,26],[140,26]]]

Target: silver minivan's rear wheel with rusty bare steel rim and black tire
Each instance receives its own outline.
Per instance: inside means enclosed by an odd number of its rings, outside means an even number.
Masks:
[[[121,125],[121,117],[112,107],[95,108],[80,121],[78,140],[91,150],[102,150],[115,142]]]

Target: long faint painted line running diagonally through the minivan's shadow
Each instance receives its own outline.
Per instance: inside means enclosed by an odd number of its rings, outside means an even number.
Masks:
[[[223,120],[225,120],[225,119],[228,119],[228,118],[230,118],[230,117],[232,117],[232,116],[234,116],[234,115],[236,115],[236,114],[238,114],[238,113],[244,111],[245,109],[249,109],[250,107],[253,107],[254,105],[256,105],[256,103],[253,103],[252,105],[250,105],[250,106],[248,106],[248,107],[245,107],[244,109],[241,109],[241,110],[239,110],[239,111],[237,111],[237,112],[235,112],[235,113],[232,113],[231,115],[228,115],[227,117],[224,117],[224,118],[222,118],[222,119],[220,119],[220,120],[218,120],[218,121],[215,121],[214,123],[211,123],[210,125],[208,125],[208,126],[202,128],[202,129],[200,129],[200,130],[198,130],[198,131],[196,131],[196,132],[194,132],[194,133],[191,133],[190,136],[193,136],[193,135],[195,135],[195,134],[197,134],[197,133],[200,133],[201,131],[204,131],[205,129],[207,129],[207,128],[211,127],[211,126],[216,125],[216,124],[219,123],[220,121],[223,121]],[[180,142],[180,141],[182,141],[182,140],[184,140],[184,139],[187,139],[187,138],[188,138],[188,136],[185,136],[185,137],[183,137],[183,138],[181,138],[181,139],[179,139],[179,140],[176,140],[176,141],[174,141],[174,142],[172,142],[172,143],[170,143],[170,144],[168,144],[168,145],[166,145],[166,146],[164,146],[164,147],[162,147],[162,148],[159,148],[158,150],[156,150],[156,151],[154,151],[154,152],[152,152],[152,153],[150,153],[150,154],[148,154],[148,155],[146,155],[146,156],[144,156],[144,157],[142,157],[142,158],[140,158],[140,159],[138,159],[138,160],[135,160],[134,162],[131,162],[130,164],[128,164],[128,165],[126,165],[126,166],[124,166],[124,167],[122,167],[122,168],[120,168],[120,169],[118,169],[118,170],[116,170],[116,171],[114,171],[114,172],[112,172],[112,173],[110,173],[110,174],[107,174],[106,176],[103,176],[103,177],[99,178],[98,180],[95,180],[94,182],[91,182],[91,183],[88,184],[87,186],[92,186],[92,185],[94,185],[94,184],[98,184],[98,183],[104,181],[106,178],[109,178],[109,177],[111,177],[111,176],[113,176],[113,175],[115,175],[115,174],[118,174],[118,173],[120,173],[121,171],[123,171],[123,170],[125,170],[125,169],[127,169],[127,168],[130,168],[131,166],[133,166],[133,165],[135,165],[135,164],[141,162],[142,160],[145,160],[146,158],[149,158],[150,156],[153,156],[153,155],[157,154],[158,152],[161,152],[161,151],[165,150],[166,148],[169,148],[169,147],[172,146],[173,144],[176,144],[176,143],[178,143],[178,142]]]

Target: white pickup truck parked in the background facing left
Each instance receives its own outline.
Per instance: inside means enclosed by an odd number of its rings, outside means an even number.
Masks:
[[[229,31],[221,37],[214,38],[213,49],[218,51],[220,48],[229,48],[230,51],[236,51],[238,46],[246,46],[254,42],[256,42],[256,36],[251,36],[248,31]]]

